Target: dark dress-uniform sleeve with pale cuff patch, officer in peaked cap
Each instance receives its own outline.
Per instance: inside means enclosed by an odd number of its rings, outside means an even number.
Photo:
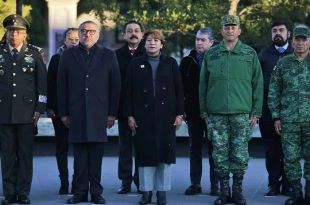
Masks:
[[[43,113],[46,108],[47,102],[47,82],[46,82],[46,66],[43,59],[38,55],[38,60],[36,61],[36,94],[37,94],[37,104],[35,112]]]

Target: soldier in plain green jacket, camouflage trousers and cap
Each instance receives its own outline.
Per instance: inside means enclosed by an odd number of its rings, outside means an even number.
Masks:
[[[208,127],[220,179],[220,196],[214,204],[230,201],[232,173],[232,200],[245,205],[242,181],[249,161],[251,127],[261,115],[263,76],[256,52],[238,39],[239,17],[226,15],[221,26],[223,41],[208,51],[201,67],[200,111]]]

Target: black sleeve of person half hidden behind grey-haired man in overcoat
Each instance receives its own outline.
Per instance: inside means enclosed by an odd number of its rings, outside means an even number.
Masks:
[[[47,109],[52,109],[55,111],[53,107],[53,102],[56,101],[56,94],[55,89],[57,88],[57,68],[59,64],[59,56],[53,55],[50,63],[48,65],[47,70]]]

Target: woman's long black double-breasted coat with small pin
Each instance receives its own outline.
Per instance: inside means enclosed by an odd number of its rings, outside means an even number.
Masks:
[[[175,59],[160,56],[155,96],[147,56],[133,59],[127,71],[125,113],[133,116],[138,125],[134,142],[139,166],[175,163],[173,124],[183,112],[181,74]]]

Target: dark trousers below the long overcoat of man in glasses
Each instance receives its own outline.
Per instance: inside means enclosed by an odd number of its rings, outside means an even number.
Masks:
[[[103,142],[73,143],[75,194],[102,194],[101,166]]]

